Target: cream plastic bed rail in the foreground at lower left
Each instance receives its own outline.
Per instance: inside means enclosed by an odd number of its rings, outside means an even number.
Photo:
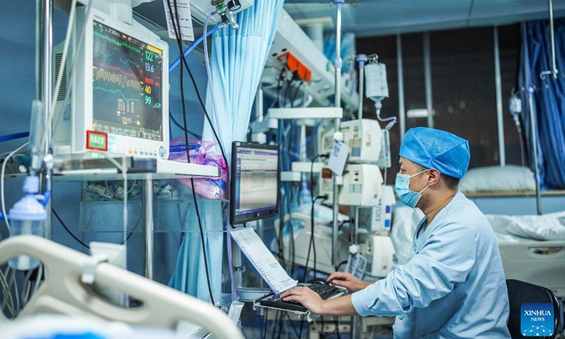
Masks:
[[[35,236],[0,242],[0,263],[20,255],[39,258],[46,272],[44,282],[20,314],[24,319],[32,314],[67,314],[171,330],[194,328],[196,324],[214,338],[244,338],[235,323],[213,305],[93,256]],[[141,306],[125,308],[111,304],[94,292],[86,280],[125,292],[140,301]],[[6,325],[5,321],[8,320],[0,312],[0,328],[3,323]]]

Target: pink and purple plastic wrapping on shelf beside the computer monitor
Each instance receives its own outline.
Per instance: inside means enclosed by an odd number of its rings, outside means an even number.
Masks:
[[[189,155],[191,164],[220,167],[220,178],[196,178],[194,189],[196,194],[205,199],[225,199],[227,185],[227,164],[222,155],[217,155],[210,148],[218,143],[189,139]],[[169,160],[186,162],[186,145],[184,138],[176,138],[169,143]],[[184,186],[192,189],[190,179],[179,179]]]

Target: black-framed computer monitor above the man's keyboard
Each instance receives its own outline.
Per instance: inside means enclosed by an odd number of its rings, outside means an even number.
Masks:
[[[240,225],[278,213],[279,147],[232,143],[230,222]]]

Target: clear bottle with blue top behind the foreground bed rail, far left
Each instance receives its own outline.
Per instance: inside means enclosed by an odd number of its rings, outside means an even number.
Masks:
[[[10,237],[18,235],[44,234],[47,212],[44,206],[37,201],[39,191],[39,178],[26,177],[23,184],[25,196],[10,209]],[[39,266],[39,261],[29,256],[16,256],[8,261],[8,265],[16,270],[30,270]]]

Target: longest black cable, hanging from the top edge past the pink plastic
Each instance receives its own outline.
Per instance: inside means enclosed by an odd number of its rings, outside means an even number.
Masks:
[[[178,8],[177,8],[177,0],[173,0],[173,4],[174,4],[174,13],[179,13]],[[171,1],[167,0],[167,6],[169,8],[169,13],[173,13],[172,11],[172,7],[171,7]],[[175,20],[171,20],[172,22],[172,27],[174,30],[174,35],[175,37],[177,37],[177,43],[179,45],[179,54],[181,55],[183,61],[186,63],[186,59],[184,59],[184,54],[182,51],[182,40],[181,40],[181,35],[180,35],[180,21],[179,21],[179,16],[176,16],[176,21],[177,23],[175,24]],[[206,38],[206,37],[205,37]],[[186,64],[188,66],[188,64]],[[186,126],[186,107],[184,104],[184,84],[183,84],[183,63],[181,63],[180,67],[180,90],[181,90],[181,103],[182,103],[182,117],[183,117],[183,122],[184,122],[184,143],[186,145],[186,162],[188,162],[190,164],[190,152],[189,152],[189,133],[188,133],[188,127]],[[218,143],[220,143],[219,139],[218,139]],[[220,145],[221,148],[221,145]],[[227,160],[226,160],[227,163]],[[208,270],[208,254],[206,253],[206,240],[204,239],[204,228],[202,227],[202,220],[200,218],[200,211],[198,210],[198,201],[196,199],[196,190],[194,187],[194,179],[191,177],[190,179],[191,182],[191,186],[192,186],[192,198],[194,200],[194,209],[196,210],[196,218],[198,219],[198,227],[200,228],[200,239],[201,239],[201,243],[202,243],[202,252],[203,252],[203,256],[204,256],[204,268],[206,268],[206,283],[208,283],[208,293],[210,295],[210,302],[212,302],[213,305],[215,305],[214,302],[214,296],[212,293],[212,283],[210,283],[210,272]]]

